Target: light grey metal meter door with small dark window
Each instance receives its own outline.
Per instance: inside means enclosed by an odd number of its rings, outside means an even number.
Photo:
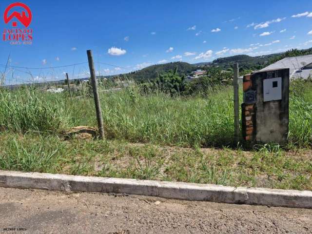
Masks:
[[[282,78],[270,78],[263,80],[263,101],[282,99]]]

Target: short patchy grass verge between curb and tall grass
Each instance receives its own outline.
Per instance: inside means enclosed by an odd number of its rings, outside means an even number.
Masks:
[[[311,150],[200,149],[0,134],[0,169],[312,190]]]

